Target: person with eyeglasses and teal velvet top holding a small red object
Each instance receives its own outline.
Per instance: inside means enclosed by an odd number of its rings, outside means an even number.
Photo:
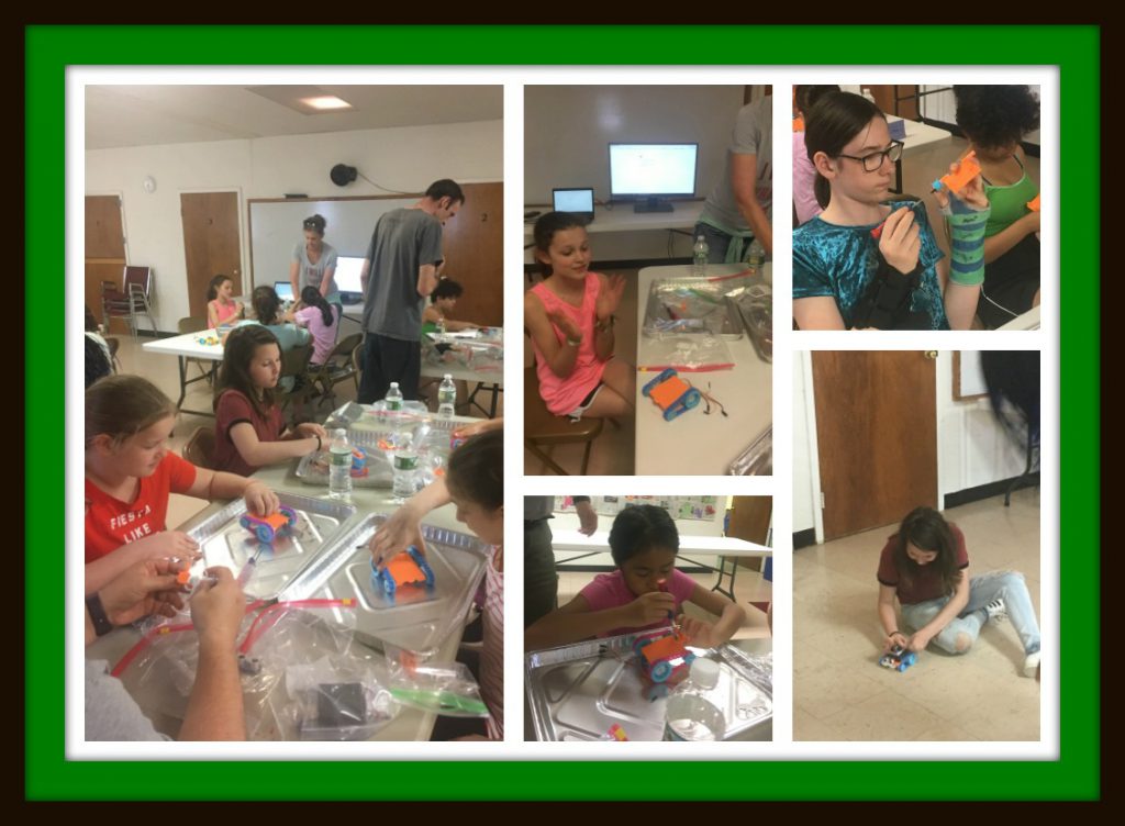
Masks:
[[[922,203],[888,200],[902,144],[867,99],[825,95],[804,143],[824,212],[793,232],[793,316],[802,330],[968,330],[984,279],[989,205],[980,176],[937,194],[952,266]],[[953,164],[951,170],[956,170]]]

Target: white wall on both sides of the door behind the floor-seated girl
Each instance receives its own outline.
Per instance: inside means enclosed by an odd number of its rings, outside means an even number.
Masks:
[[[806,421],[816,422],[812,394],[806,386],[808,351],[793,360],[793,531],[814,527],[817,455]],[[997,423],[988,398],[953,398],[953,352],[937,357],[937,495],[938,505],[951,493],[1018,476],[1024,452]],[[818,536],[818,540],[821,537]]]

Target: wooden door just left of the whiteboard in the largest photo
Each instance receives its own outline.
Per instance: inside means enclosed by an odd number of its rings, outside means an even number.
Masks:
[[[192,317],[207,317],[207,286],[223,273],[242,289],[242,245],[238,241],[237,192],[183,192],[183,258],[188,270],[188,309]]]

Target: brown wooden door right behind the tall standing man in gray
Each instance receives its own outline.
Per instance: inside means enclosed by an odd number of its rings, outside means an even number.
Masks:
[[[465,204],[446,222],[442,275],[465,287],[454,316],[504,324],[504,185],[465,183]]]

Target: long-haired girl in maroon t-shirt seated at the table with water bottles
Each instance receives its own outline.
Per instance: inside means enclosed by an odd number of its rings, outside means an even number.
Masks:
[[[327,432],[315,422],[292,430],[273,398],[281,377],[281,345],[258,324],[231,333],[215,396],[215,467],[251,474],[263,465],[320,450]]]

